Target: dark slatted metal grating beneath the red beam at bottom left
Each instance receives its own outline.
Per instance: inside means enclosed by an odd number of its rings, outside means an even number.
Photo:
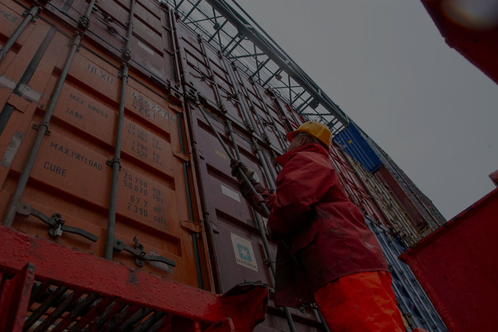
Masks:
[[[50,282],[34,281],[23,331],[163,331],[164,312]]]

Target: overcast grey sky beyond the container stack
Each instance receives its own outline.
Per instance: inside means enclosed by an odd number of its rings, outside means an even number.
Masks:
[[[419,0],[239,0],[447,219],[495,186],[498,86]]]

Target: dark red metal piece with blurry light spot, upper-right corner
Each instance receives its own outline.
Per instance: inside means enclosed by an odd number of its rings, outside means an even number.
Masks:
[[[473,7],[479,7],[481,1],[421,1],[446,43],[498,83],[496,4],[487,1],[490,10],[485,12],[485,17],[479,19],[473,14]]]

